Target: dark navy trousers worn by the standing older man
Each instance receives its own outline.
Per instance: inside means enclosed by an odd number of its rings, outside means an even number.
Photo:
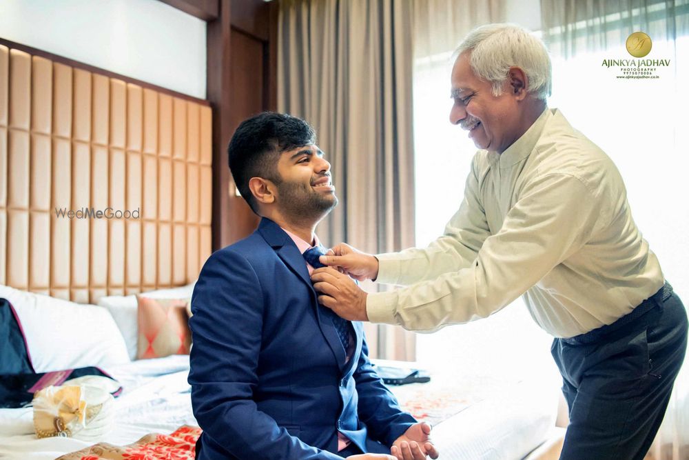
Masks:
[[[686,309],[668,287],[630,321],[553,341],[570,418],[560,460],[641,460],[648,452],[687,347]]]

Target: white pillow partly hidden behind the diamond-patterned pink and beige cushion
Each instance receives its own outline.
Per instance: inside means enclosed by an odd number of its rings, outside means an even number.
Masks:
[[[159,289],[148,292],[141,292],[142,297],[150,299],[187,299],[192,297],[194,284],[187,284],[180,288]],[[101,297],[98,301],[99,306],[107,308],[112,314],[117,327],[120,328],[122,337],[127,344],[127,353],[132,361],[136,359],[136,342],[138,341],[138,320],[136,311],[138,302],[135,295],[110,295]]]

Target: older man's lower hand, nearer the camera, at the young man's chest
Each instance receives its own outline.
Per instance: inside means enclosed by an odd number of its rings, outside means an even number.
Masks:
[[[318,292],[318,302],[330,308],[339,317],[349,321],[369,321],[366,314],[367,293],[348,277],[334,268],[313,270],[313,288]]]

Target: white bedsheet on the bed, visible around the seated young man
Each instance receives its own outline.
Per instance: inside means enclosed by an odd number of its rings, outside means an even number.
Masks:
[[[115,399],[115,428],[102,441],[121,446],[150,432],[169,433],[181,425],[197,424],[187,383],[189,357],[133,361],[105,370],[122,383],[124,391]],[[557,392],[545,385],[486,384],[474,376],[460,379],[455,388],[467,396],[479,392],[481,401],[433,428],[442,460],[522,459],[555,425]],[[0,458],[55,459],[90,444],[70,438],[36,439],[31,408],[0,409]]]

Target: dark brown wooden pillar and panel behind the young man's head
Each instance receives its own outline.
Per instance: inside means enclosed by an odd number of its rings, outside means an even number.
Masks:
[[[220,0],[207,26],[207,96],[213,108],[213,248],[254,231],[258,217],[236,196],[227,144],[253,114],[277,101],[277,4]]]

